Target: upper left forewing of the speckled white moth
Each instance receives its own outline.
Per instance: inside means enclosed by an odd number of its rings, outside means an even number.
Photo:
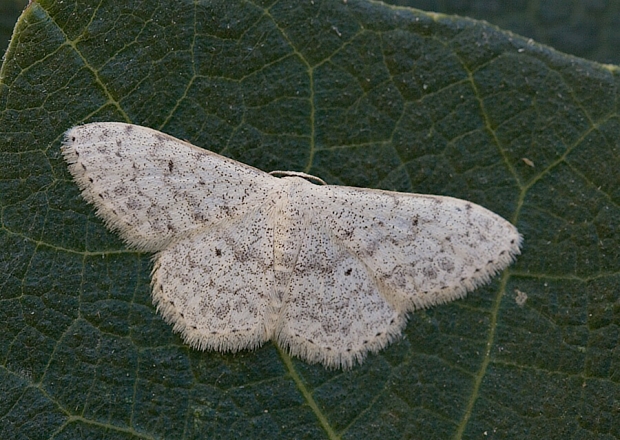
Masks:
[[[250,166],[118,122],[73,127],[62,152],[86,201],[108,227],[144,251],[243,215],[279,184]]]

